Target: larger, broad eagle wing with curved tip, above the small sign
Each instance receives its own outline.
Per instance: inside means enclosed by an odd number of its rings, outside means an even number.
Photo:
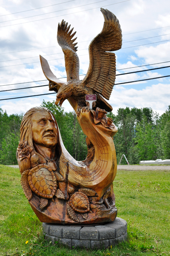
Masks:
[[[104,15],[104,26],[89,45],[89,69],[82,83],[104,98],[109,99],[115,83],[115,54],[107,51],[121,49],[121,26],[116,16],[107,9],[101,8]]]

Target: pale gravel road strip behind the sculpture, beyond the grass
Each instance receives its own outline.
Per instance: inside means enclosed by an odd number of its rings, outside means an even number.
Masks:
[[[9,166],[13,168],[19,168],[19,166]],[[170,166],[148,166],[148,165],[118,165],[118,170],[128,171],[144,171],[144,170],[170,170]]]

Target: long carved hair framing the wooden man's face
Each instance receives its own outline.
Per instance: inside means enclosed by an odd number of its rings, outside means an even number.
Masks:
[[[58,143],[56,145],[55,151],[56,151],[57,158],[59,159],[60,156],[61,156],[61,152],[62,152],[61,143],[60,143],[60,135],[59,135],[60,131],[58,129],[58,124],[57,124],[57,121],[55,119],[55,116],[52,114],[51,111],[49,111],[48,108],[43,108],[43,107],[31,108],[23,116],[23,119],[22,119],[21,125],[20,125],[20,143],[23,143],[23,141],[26,141],[27,145],[29,145],[29,147],[33,148],[31,154],[32,155],[37,154],[38,157],[39,157],[40,163],[46,163],[46,160],[42,155],[40,155],[36,152],[35,147],[34,147],[34,143],[32,141],[32,116],[37,112],[42,113],[42,112],[45,112],[45,111],[49,112],[52,115],[52,119],[54,120],[55,125],[57,127],[57,141],[58,141]],[[31,168],[30,161],[29,161],[29,163],[26,163],[26,162],[28,162],[27,159],[25,161],[24,160],[20,161],[19,158],[18,158],[18,154],[17,154],[17,161],[18,161],[21,173],[24,170]]]

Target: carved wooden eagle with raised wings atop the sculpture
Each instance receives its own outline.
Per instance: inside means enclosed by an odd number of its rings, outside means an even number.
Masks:
[[[105,99],[109,99],[115,84],[116,61],[112,51],[121,49],[122,33],[116,16],[107,9],[101,8],[101,12],[104,26],[89,45],[89,69],[82,81],[79,80],[78,47],[74,43],[77,38],[72,39],[76,32],[72,34],[73,28],[70,29],[64,20],[58,24],[57,40],[64,53],[67,82],[57,79],[46,59],[40,56],[43,73],[49,80],[49,90],[57,92],[56,105],[61,106],[71,97],[78,103],[79,110],[86,106],[86,94],[96,94],[93,109],[99,107],[112,111],[112,106]]]

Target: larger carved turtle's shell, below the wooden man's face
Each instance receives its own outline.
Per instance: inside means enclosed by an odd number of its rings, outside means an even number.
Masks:
[[[52,169],[46,164],[35,166],[29,171],[30,189],[41,198],[53,198],[57,189],[57,180]]]

